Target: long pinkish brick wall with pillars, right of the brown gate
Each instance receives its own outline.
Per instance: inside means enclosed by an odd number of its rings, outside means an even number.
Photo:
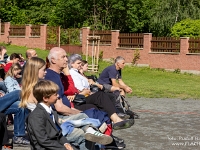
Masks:
[[[90,29],[82,28],[82,53],[86,54],[87,49],[87,35]],[[134,57],[136,48],[119,48],[118,47],[119,30],[112,30],[112,41],[110,45],[100,45],[99,50],[103,51],[103,59],[116,58],[122,56],[126,59],[127,63],[131,63]],[[137,65],[150,66],[151,68],[164,68],[164,69],[181,69],[183,72],[192,72],[199,74],[200,72],[200,55],[190,54],[189,38],[181,38],[180,52],[179,53],[158,53],[151,52],[151,33],[144,33],[143,48],[139,48],[140,59]],[[91,56],[92,45],[88,46],[89,55]]]

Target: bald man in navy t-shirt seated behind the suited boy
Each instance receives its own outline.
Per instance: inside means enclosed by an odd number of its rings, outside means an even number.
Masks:
[[[58,94],[59,99],[54,104],[55,110],[58,113],[58,117],[60,120],[79,120],[83,118],[88,118],[88,116],[84,113],[80,113],[80,110],[77,110],[75,108],[71,108],[70,101],[67,99],[67,97],[64,95],[64,87],[60,78],[61,71],[67,67],[67,57],[66,52],[59,47],[54,47],[50,50],[48,55],[49,60],[49,68],[46,70],[46,76],[45,79],[53,81],[59,86]],[[54,109],[54,108],[53,108]],[[85,136],[86,133],[88,136]],[[109,142],[112,141],[105,141],[102,139],[102,137],[110,139],[108,136],[105,136],[101,133],[95,134],[95,131],[93,128],[74,128],[72,133],[68,134],[66,136],[67,140],[70,142],[73,142],[74,145],[79,146],[81,150],[89,150],[88,144],[91,145],[91,142],[98,142],[100,144],[106,145]],[[91,142],[89,142],[91,141]]]

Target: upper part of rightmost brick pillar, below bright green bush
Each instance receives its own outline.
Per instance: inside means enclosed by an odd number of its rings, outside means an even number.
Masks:
[[[189,37],[180,38],[180,55],[186,55],[189,53]]]

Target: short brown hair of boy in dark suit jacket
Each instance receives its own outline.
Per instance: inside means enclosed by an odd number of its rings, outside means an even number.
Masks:
[[[33,96],[38,103],[43,102],[43,98],[49,98],[58,93],[59,87],[56,83],[49,80],[39,80],[33,87]]]

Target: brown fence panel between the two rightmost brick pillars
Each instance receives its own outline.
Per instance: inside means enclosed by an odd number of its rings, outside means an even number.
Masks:
[[[151,52],[180,52],[180,38],[152,37]]]

